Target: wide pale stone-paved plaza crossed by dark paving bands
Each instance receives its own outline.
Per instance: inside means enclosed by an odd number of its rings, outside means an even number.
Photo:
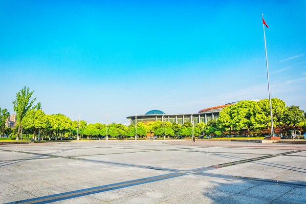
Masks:
[[[199,140],[0,145],[0,203],[305,204],[306,145]]]

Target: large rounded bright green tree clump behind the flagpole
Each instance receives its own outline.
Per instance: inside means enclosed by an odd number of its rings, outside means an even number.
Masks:
[[[284,101],[272,98],[272,116],[275,132],[288,134],[289,129],[305,132],[306,114],[299,106],[286,106]],[[269,134],[271,127],[269,100],[240,101],[219,113],[216,128],[223,134]],[[282,132],[283,131],[283,132]]]

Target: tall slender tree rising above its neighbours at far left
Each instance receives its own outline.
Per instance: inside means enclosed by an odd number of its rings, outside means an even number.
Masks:
[[[30,91],[29,88],[23,87],[21,91],[16,93],[16,100],[13,101],[14,104],[14,111],[16,112],[17,121],[18,121],[18,132],[16,140],[19,138],[20,129],[22,127],[22,119],[25,114],[36,106],[33,107],[33,103],[35,102],[36,98],[31,100],[34,91]]]

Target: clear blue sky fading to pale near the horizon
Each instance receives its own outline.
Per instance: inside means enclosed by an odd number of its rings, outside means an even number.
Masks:
[[[0,107],[126,123],[271,95],[306,111],[306,1],[0,0]]]

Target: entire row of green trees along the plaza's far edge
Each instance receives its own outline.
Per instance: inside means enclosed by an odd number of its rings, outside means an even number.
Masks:
[[[34,105],[36,98],[31,99],[34,91],[24,87],[16,94],[13,102],[14,111],[17,116],[16,128],[6,128],[5,121],[9,116],[6,109],[0,108],[0,131],[1,135],[20,136],[23,134],[31,135],[35,138],[38,134],[44,137],[75,137],[77,135],[77,121],[71,121],[65,115],[45,114],[41,104]],[[298,106],[286,107],[284,101],[272,99],[272,113],[275,132],[288,134],[289,130],[305,132],[306,114]],[[164,128],[165,125],[165,128]],[[93,138],[109,136],[110,138],[133,137],[137,132],[138,137],[148,136],[195,136],[200,135],[265,135],[270,133],[270,109],[267,99],[255,101],[240,101],[223,109],[219,113],[218,120],[211,119],[207,124],[198,123],[192,127],[191,122],[183,125],[155,121],[148,123],[138,123],[136,130],[133,124],[129,127],[112,123],[107,125],[101,123],[87,124],[80,121],[81,138]],[[108,133],[108,134],[107,134]]]

